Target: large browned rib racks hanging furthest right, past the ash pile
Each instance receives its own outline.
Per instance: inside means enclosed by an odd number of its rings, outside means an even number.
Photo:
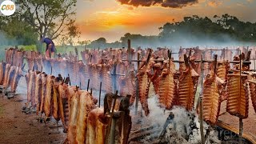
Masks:
[[[250,53],[247,55],[246,61],[249,60],[248,57],[250,57]],[[240,58],[242,58],[242,55],[240,55]],[[237,60],[240,61],[240,59]],[[212,69],[203,85],[202,114],[204,120],[214,125],[218,120],[221,102],[224,100],[226,100],[227,112],[238,118],[247,118],[249,97],[252,99],[253,106],[255,105],[254,80],[248,82],[252,73],[243,74],[243,71],[248,70],[249,66],[242,65],[240,67],[239,64],[235,64],[234,69],[230,71],[228,62],[216,61],[211,65]],[[242,72],[240,72],[240,68]]]

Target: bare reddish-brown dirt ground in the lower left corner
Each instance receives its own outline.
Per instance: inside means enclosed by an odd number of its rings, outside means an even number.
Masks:
[[[22,113],[25,102],[25,94],[11,99],[0,94],[0,143],[63,143],[66,134],[62,127],[57,129],[54,119],[45,125],[38,122],[36,114]]]

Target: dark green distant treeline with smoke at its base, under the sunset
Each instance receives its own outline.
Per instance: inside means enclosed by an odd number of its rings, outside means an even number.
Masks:
[[[223,14],[214,18],[200,18],[197,15],[184,17],[182,22],[167,22],[158,28],[156,36],[125,34],[117,42],[108,43],[106,38],[90,42],[88,47],[122,47],[127,46],[127,39],[132,46],[198,46],[198,45],[235,45],[240,42],[256,42],[256,22],[242,22],[234,16]]]

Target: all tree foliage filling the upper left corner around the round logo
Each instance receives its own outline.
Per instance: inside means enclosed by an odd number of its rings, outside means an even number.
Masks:
[[[77,0],[17,0],[15,4],[18,10],[11,16],[0,17],[0,30],[19,41],[25,38],[21,44],[26,44],[26,34],[31,36],[29,43],[33,43],[39,36],[52,39],[74,38],[79,34],[74,19],[76,2]],[[11,30],[13,27],[20,27],[22,30]],[[21,38],[12,35],[16,32],[23,34]]]

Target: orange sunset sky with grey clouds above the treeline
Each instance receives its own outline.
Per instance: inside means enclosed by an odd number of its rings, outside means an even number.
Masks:
[[[213,18],[230,14],[256,22],[256,0],[78,0],[76,20],[80,40],[106,38],[115,42],[126,34],[158,35],[166,22],[185,16]]]

